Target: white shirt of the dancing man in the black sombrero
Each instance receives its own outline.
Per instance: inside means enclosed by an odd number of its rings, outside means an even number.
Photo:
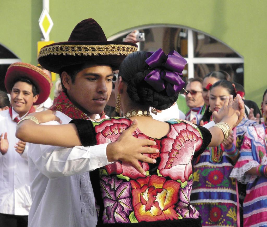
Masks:
[[[62,124],[71,121],[61,112],[57,111],[56,116]],[[96,226],[95,199],[88,171],[110,164],[106,147],[107,144],[74,148],[29,144],[33,203],[28,226]]]

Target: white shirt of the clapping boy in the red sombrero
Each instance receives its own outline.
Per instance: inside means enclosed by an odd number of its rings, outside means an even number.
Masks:
[[[15,117],[20,120],[18,113],[12,108],[12,118]],[[28,215],[32,204],[27,158],[28,143],[22,154],[15,151],[14,146],[19,139],[15,137],[17,123],[13,119],[9,110],[0,112],[0,133],[7,132],[9,142],[7,153],[2,155],[0,152],[0,213]]]

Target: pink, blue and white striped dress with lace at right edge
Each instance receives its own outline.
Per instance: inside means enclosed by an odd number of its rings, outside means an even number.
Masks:
[[[264,124],[248,127],[240,149],[240,157],[230,175],[246,184],[243,203],[244,227],[267,226],[267,178],[246,173],[259,164],[267,165]]]

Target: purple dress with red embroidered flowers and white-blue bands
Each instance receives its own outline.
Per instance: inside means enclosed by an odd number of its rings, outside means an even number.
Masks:
[[[235,129],[237,148],[242,143],[243,128],[252,123],[244,119]],[[240,212],[242,211],[245,189],[244,186],[237,185],[235,179],[230,178],[234,163],[224,152],[222,144],[207,148],[193,160],[193,166],[194,181],[190,202],[201,214],[202,226],[237,226],[237,221],[239,221],[237,213],[239,209]],[[237,210],[239,199],[240,204]]]

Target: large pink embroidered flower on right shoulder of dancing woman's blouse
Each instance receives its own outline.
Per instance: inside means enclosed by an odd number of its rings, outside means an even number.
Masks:
[[[193,152],[198,151],[201,145],[200,133],[190,124],[181,122],[172,125],[169,138],[162,140],[160,174],[170,176],[174,180],[187,181],[192,174]]]

